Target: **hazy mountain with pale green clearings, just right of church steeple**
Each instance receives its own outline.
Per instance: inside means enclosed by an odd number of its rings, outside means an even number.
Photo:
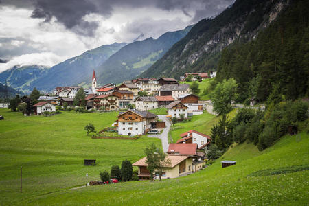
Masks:
[[[147,38],[122,47],[96,69],[98,81],[101,84],[119,83],[135,78],[161,58],[191,28],[192,25],[185,27],[184,30],[166,32],[157,39]],[[87,80],[90,81],[91,78]]]

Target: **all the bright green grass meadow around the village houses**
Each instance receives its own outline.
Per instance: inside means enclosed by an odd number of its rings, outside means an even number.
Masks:
[[[232,117],[236,111],[232,111]],[[91,139],[83,130],[109,126],[117,113],[65,112],[53,117],[23,117],[0,110],[1,205],[308,205],[309,135],[286,135],[260,152],[252,143],[233,144],[213,165],[200,172],[161,182],[132,181],[115,185],[82,187],[99,179],[123,159],[135,161],[143,149],[159,139],[136,141]],[[178,123],[208,133],[218,117],[207,113]],[[84,166],[84,159],[98,165]],[[237,161],[221,168],[220,161]],[[23,193],[19,192],[23,166]],[[88,173],[89,176],[85,176]]]

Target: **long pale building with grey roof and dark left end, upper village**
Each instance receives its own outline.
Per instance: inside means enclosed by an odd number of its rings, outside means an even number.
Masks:
[[[164,84],[160,89],[160,96],[172,96],[177,99],[185,94],[190,94],[189,84]]]

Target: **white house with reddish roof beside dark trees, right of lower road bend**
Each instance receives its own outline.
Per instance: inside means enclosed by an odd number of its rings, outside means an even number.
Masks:
[[[179,139],[176,143],[196,143],[198,144],[198,150],[205,148],[211,141],[211,138],[208,135],[200,133],[196,130],[189,130],[180,135],[182,138]]]

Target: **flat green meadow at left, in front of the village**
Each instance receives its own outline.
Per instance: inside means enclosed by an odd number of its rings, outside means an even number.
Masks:
[[[0,109],[0,115],[5,117],[0,122],[0,205],[16,205],[42,194],[83,185],[99,179],[100,171],[109,171],[124,159],[137,161],[152,142],[161,147],[156,138],[134,141],[91,139],[86,135],[86,124],[93,123],[96,130],[111,126],[117,116],[115,112],[72,111],[52,117],[24,117]],[[98,165],[84,166],[84,159],[96,159]],[[23,194],[19,193],[21,166]]]

